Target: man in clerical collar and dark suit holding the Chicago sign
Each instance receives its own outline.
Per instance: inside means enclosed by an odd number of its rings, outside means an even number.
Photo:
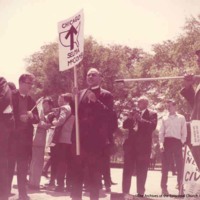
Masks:
[[[101,73],[91,68],[87,73],[88,88],[80,91],[79,127],[81,155],[74,158],[72,199],[82,199],[84,169],[88,169],[91,200],[99,199],[103,150],[110,137],[109,120],[113,109],[111,93],[100,87]],[[74,143],[74,139],[72,139]]]

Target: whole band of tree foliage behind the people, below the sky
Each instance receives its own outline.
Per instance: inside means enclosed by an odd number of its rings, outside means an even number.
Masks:
[[[181,34],[176,40],[167,40],[153,45],[153,53],[123,45],[102,45],[92,37],[85,39],[84,57],[78,65],[78,87],[87,87],[85,77],[91,67],[98,68],[103,74],[102,86],[114,95],[115,108],[119,123],[134,106],[140,95],[150,99],[150,106],[160,115],[164,111],[164,101],[174,98],[178,111],[187,118],[190,108],[180,96],[182,80],[163,80],[146,82],[116,83],[116,79],[142,77],[174,77],[185,72],[199,74],[195,51],[200,49],[200,15],[187,19]],[[60,93],[71,92],[73,88],[73,69],[59,72],[58,44],[50,43],[41,47],[27,61],[27,71],[36,76],[33,90],[35,98],[51,95],[56,98]],[[118,130],[116,141],[122,149],[124,131]]]

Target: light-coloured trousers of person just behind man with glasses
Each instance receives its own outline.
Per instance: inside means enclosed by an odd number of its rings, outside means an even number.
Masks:
[[[29,184],[33,186],[40,186],[40,179],[44,165],[45,146],[33,146],[32,160],[30,165]]]

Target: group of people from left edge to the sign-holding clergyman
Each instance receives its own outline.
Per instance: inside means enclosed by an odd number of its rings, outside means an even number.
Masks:
[[[57,107],[50,97],[43,98],[39,113],[30,96],[34,79],[32,74],[22,74],[19,89],[16,89],[1,78],[1,134],[4,138],[0,138],[1,153],[4,154],[1,156],[0,199],[6,200],[11,194],[15,166],[19,199],[30,199],[27,188],[41,189],[49,132],[53,133],[51,141],[48,141],[51,166],[49,186],[55,186],[55,191],[64,191],[66,185],[71,198],[78,200],[82,199],[84,185],[90,192],[90,198],[98,199],[103,177],[106,190],[110,192],[109,152],[114,145],[113,132],[117,127],[117,118],[111,93],[100,87],[100,72],[91,68],[87,73],[88,88],[78,93],[80,155],[76,153],[73,95],[59,95]]]

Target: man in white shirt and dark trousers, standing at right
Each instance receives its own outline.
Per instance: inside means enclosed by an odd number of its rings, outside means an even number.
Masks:
[[[172,99],[168,100],[166,106],[168,114],[163,116],[159,131],[160,150],[163,152],[161,178],[163,195],[169,194],[167,190],[167,179],[170,162],[173,155],[177,167],[179,191],[181,189],[183,176],[182,146],[187,137],[186,120],[183,115],[176,112],[176,102]]]

